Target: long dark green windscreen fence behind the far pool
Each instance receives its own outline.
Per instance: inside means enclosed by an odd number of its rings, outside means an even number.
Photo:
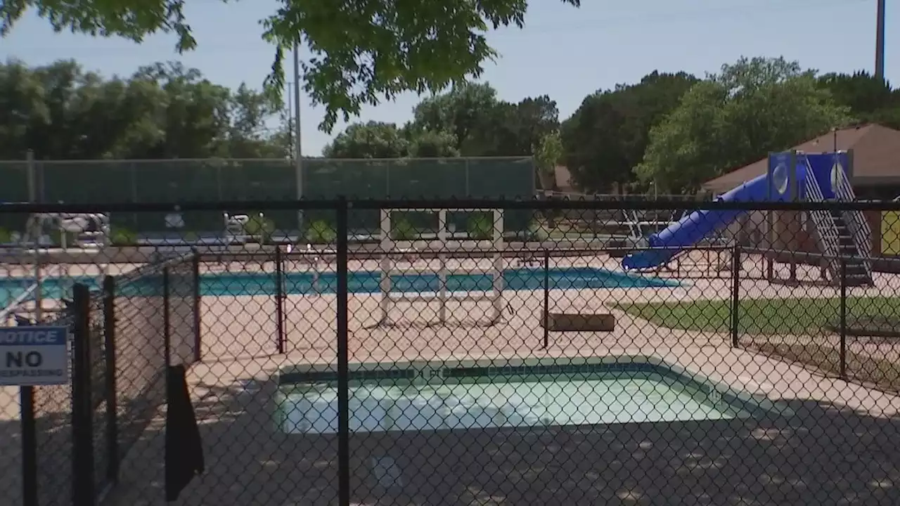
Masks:
[[[151,203],[282,201],[297,198],[293,161],[283,159],[35,161],[34,194],[42,203]],[[0,202],[29,199],[26,162],[0,162]],[[535,193],[532,158],[304,159],[302,195],[307,199],[525,198]],[[259,209],[229,212],[255,214]],[[279,230],[296,230],[296,211],[266,212]],[[305,212],[304,224],[333,222],[329,213]],[[218,212],[191,212],[184,231],[220,231]],[[527,230],[530,212],[504,216],[508,231]],[[165,232],[166,213],[123,213],[113,226],[137,233]],[[374,231],[378,212],[351,213],[351,228]],[[462,223],[459,226],[464,226]],[[171,231],[171,230],[168,230]]]

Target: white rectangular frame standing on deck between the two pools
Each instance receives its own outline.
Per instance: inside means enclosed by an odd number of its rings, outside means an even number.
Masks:
[[[414,302],[432,302],[437,301],[437,318],[441,324],[447,321],[447,303],[453,300],[456,303],[464,301],[481,302],[488,301],[491,303],[491,325],[500,322],[503,315],[503,251],[505,242],[503,239],[503,211],[499,209],[428,209],[422,212],[430,212],[437,214],[437,239],[418,240],[418,241],[401,241],[392,237],[392,212],[401,212],[401,209],[382,209],[381,210],[381,275],[379,280],[380,316],[378,325],[391,325],[390,312],[397,303],[414,303]],[[419,210],[417,210],[419,211]],[[471,240],[460,241],[452,239],[451,232],[448,227],[447,212],[485,212],[491,213],[493,218],[493,226],[491,228],[491,239],[470,238]],[[485,230],[489,231],[489,230]],[[424,244],[423,244],[424,242]],[[452,256],[455,249],[463,248],[467,254],[482,251],[491,258],[491,267],[463,267],[458,265],[451,267],[448,257]],[[410,253],[414,252],[418,257],[422,253],[433,252],[437,254],[437,266],[428,262],[426,267],[417,265],[414,259],[410,258]],[[400,257],[400,258],[398,258]],[[405,267],[398,267],[400,264],[407,264]],[[393,291],[392,276],[401,274],[417,273],[419,275],[437,275],[437,292],[436,293],[404,293]],[[446,288],[448,276],[455,273],[464,275],[483,274],[491,277],[491,291],[489,292],[460,292],[450,294]]]

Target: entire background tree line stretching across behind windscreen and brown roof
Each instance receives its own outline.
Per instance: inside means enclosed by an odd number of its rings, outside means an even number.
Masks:
[[[429,95],[402,124],[359,122],[329,158],[533,156],[554,184],[568,167],[585,193],[683,193],[724,171],[858,122],[900,129],[900,90],[858,72],[740,59],[703,78],[653,71],[600,89],[560,122],[550,96],[500,100],[489,83]],[[155,63],[103,77],[63,60],[0,65],[0,158],[290,158],[284,106],[193,68]],[[537,175],[536,175],[537,176]]]

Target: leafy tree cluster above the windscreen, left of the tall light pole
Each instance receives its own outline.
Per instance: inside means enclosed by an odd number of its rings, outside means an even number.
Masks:
[[[270,130],[279,109],[180,64],[103,78],[71,60],[10,60],[0,65],[0,157],[283,158],[287,136]]]

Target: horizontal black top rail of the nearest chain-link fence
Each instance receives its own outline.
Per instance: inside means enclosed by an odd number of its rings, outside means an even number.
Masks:
[[[261,211],[331,210],[428,210],[444,209],[502,209],[510,210],[635,210],[635,211],[896,211],[900,202],[698,202],[683,200],[585,200],[557,201],[535,198],[518,199],[392,199],[364,200],[338,197],[333,199],[253,200],[220,202],[158,202],[158,203],[0,203],[0,214],[40,212],[196,212],[256,209]]]

